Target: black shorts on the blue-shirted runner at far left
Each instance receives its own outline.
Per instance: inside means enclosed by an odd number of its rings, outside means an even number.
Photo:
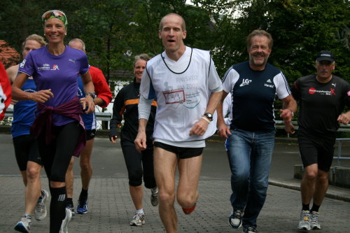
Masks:
[[[13,146],[15,148],[15,157],[20,171],[27,170],[27,162],[36,162],[43,165],[38,151],[38,143],[34,136],[30,134],[16,136],[13,139]]]

